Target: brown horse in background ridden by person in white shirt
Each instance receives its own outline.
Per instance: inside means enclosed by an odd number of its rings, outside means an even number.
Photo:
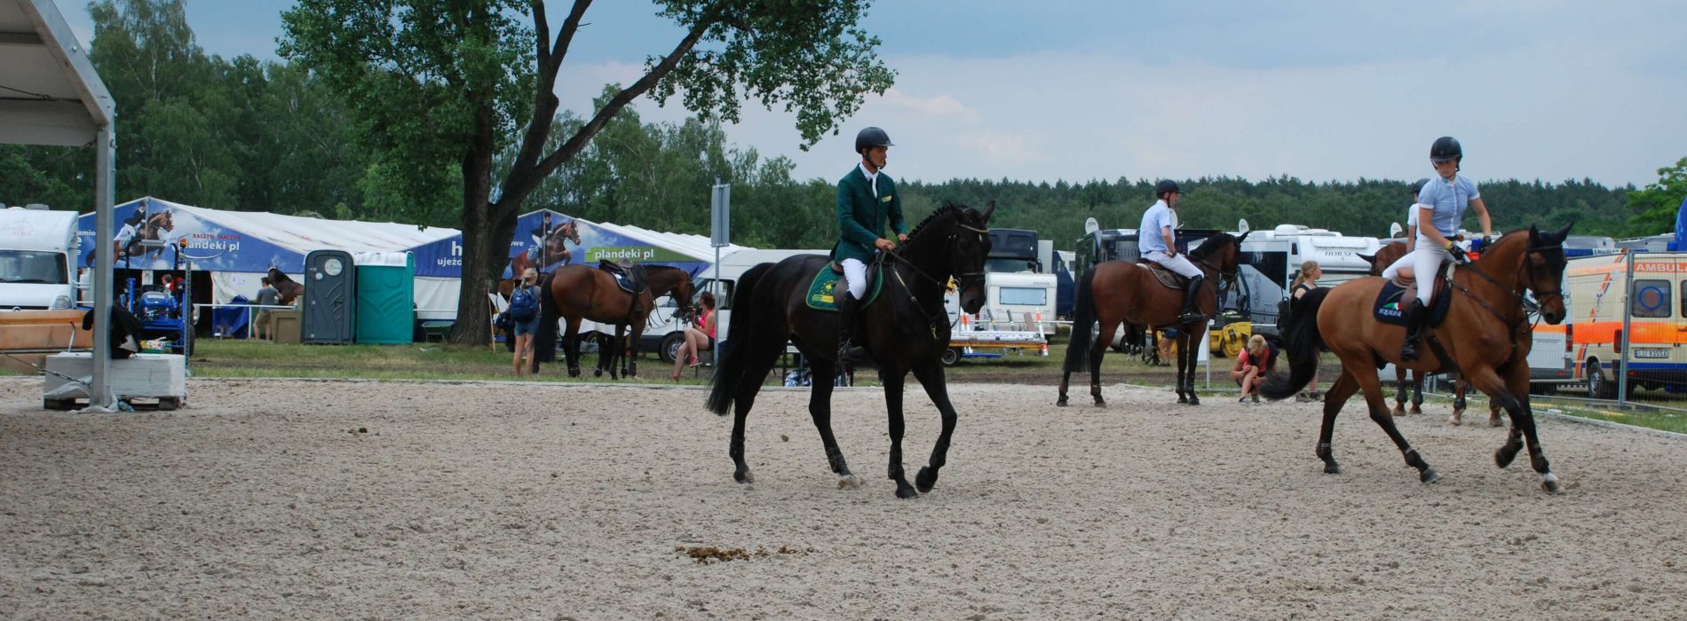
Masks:
[[[1203,316],[1211,317],[1218,310],[1218,280],[1237,277],[1240,246],[1247,236],[1247,233],[1242,236],[1218,233],[1189,251],[1189,260],[1206,275],[1206,285],[1201,287],[1198,294],[1201,299],[1196,302]],[[1071,373],[1088,359],[1090,395],[1095,397],[1095,407],[1107,407],[1102,400],[1102,354],[1113,343],[1113,331],[1120,324],[1178,327],[1178,403],[1199,405],[1201,398],[1194,395],[1194,349],[1201,344],[1196,334],[1206,332],[1208,321],[1179,324],[1179,314],[1183,314],[1183,295],[1162,285],[1142,265],[1113,260],[1085,272],[1078,282],[1078,309],[1059,378],[1059,400],[1054,405],[1066,405]],[[1097,338],[1097,321],[1100,321],[1100,338]]]

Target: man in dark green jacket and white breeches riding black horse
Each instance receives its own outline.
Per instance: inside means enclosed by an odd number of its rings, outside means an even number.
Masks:
[[[857,164],[838,181],[838,245],[832,258],[844,267],[844,285],[833,294],[838,305],[838,363],[860,363],[867,351],[852,343],[855,338],[855,304],[867,295],[867,263],[877,251],[896,250],[896,241],[908,241],[908,224],[903,223],[903,199],[896,182],[884,174],[891,135],[869,127],[855,135]],[[889,223],[896,241],[884,236]]]

